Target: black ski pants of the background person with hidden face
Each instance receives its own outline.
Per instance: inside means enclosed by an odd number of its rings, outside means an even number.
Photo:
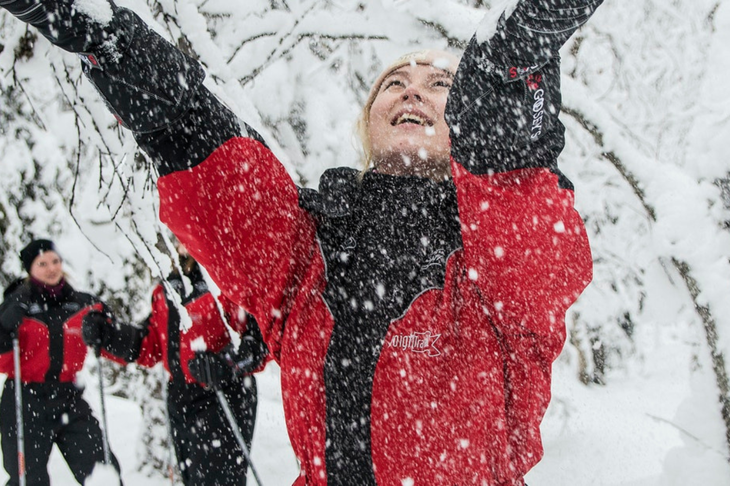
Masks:
[[[257,406],[254,377],[229,382],[223,394],[250,450]],[[170,382],[167,398],[172,443],[185,486],[245,486],[248,462],[215,391]]]

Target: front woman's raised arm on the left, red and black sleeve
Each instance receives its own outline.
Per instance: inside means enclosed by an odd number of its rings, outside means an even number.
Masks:
[[[101,2],[103,5],[104,3]],[[0,5],[65,50],[154,160],[160,218],[221,291],[278,340],[315,252],[298,191],[253,130],[201,83],[204,72],[128,9],[93,15],[71,0]]]

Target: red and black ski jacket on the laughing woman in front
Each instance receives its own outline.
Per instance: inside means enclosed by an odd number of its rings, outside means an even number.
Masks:
[[[601,0],[518,4],[475,37],[445,117],[453,179],[327,171],[298,189],[201,88],[164,130],[161,219],[255,315],[282,369],[296,485],[522,485],[592,261],[557,50]]]

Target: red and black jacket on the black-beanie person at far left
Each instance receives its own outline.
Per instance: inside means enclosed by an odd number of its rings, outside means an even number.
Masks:
[[[60,294],[52,296],[26,281],[10,292],[2,305],[20,302],[28,308],[18,328],[20,377],[23,383],[74,382],[84,364],[86,345],[81,321],[90,310],[109,313],[97,297],[76,291],[64,281]],[[4,334],[4,333],[3,333]],[[0,372],[15,377],[12,340],[0,338]]]

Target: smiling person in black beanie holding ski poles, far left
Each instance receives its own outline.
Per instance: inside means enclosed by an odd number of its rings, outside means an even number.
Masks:
[[[69,284],[52,241],[31,241],[20,251],[20,260],[28,277],[12,283],[0,305],[0,372],[8,376],[0,400],[7,485],[19,484],[13,338],[20,342],[26,484],[50,485],[47,462],[55,444],[82,485],[104,462],[104,444],[99,421],[75,383],[87,353],[81,322],[88,313],[112,314],[98,297]],[[113,454],[111,460],[119,472]]]

